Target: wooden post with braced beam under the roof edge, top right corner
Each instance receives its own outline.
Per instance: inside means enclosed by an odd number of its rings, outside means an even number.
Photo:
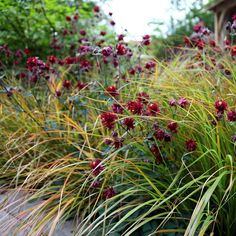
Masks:
[[[236,0],[216,0],[208,10],[215,14],[215,40],[222,45],[226,36],[225,25],[236,14]]]

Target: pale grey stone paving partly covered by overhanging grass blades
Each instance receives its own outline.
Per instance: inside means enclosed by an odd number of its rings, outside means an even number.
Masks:
[[[27,219],[27,212],[39,207],[42,202],[43,200],[27,202],[27,195],[23,191],[0,192],[0,236],[48,236],[52,222],[41,233],[30,232],[31,227],[27,225],[21,227]],[[63,225],[57,225],[52,236],[73,236],[73,229],[75,224],[67,221]]]

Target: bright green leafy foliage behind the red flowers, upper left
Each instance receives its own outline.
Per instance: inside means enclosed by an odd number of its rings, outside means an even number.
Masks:
[[[93,3],[67,0],[3,0],[0,2],[0,45],[12,50],[30,48],[32,55],[45,58],[52,53],[50,40],[63,27],[65,16],[75,12],[91,17]],[[85,26],[86,27],[86,26]]]

